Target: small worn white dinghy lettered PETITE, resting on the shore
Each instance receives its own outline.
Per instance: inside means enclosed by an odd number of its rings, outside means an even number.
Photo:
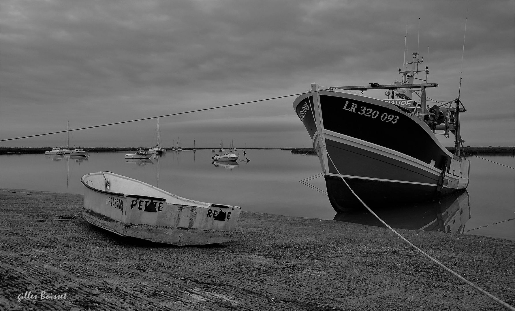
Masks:
[[[140,180],[98,172],[82,176],[89,223],[123,236],[173,245],[230,242],[241,208],[171,194]]]

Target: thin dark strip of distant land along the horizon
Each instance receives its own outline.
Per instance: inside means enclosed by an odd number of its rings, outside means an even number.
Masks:
[[[144,147],[142,149],[148,150],[150,147]],[[70,148],[73,149],[73,148]],[[129,152],[134,151],[134,148],[130,147],[94,147],[94,148],[82,148],[89,152]],[[171,151],[171,148],[165,148],[167,151]],[[211,150],[218,148],[196,148],[197,150]],[[0,154],[33,154],[33,153],[45,153],[45,151],[52,150],[52,147],[38,147],[38,148],[9,148],[0,147]],[[193,150],[193,148],[182,148],[182,150]],[[244,150],[244,149],[239,149]],[[247,150],[290,150],[291,153],[296,154],[312,154],[316,155],[316,151],[313,148],[247,148]],[[454,147],[447,147],[447,150],[454,152]],[[515,155],[515,147],[465,147],[465,152],[468,154],[484,154],[484,155]]]

